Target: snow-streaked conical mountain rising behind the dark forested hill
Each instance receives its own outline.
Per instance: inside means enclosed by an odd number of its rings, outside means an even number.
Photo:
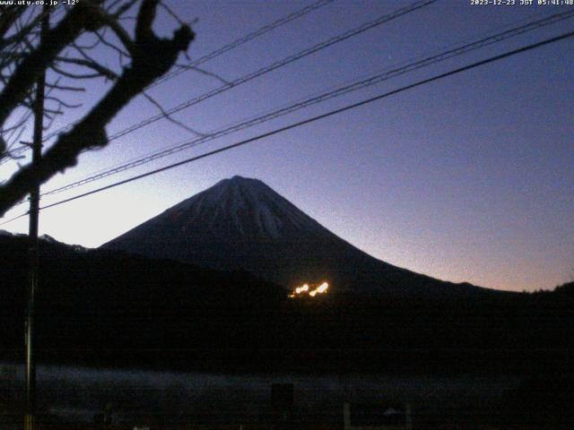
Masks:
[[[179,202],[103,249],[242,269],[284,287],[328,280],[333,291],[473,294],[382,262],[336,236],[257,179],[233,176]]]

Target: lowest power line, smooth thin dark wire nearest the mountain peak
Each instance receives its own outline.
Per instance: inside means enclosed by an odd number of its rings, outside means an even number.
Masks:
[[[119,185],[124,185],[124,184],[130,183],[130,182],[133,182],[137,179],[142,179],[143,177],[146,177],[146,176],[152,176],[152,175],[155,175],[157,173],[163,172],[165,170],[170,170],[171,168],[177,168],[179,166],[182,166],[182,165],[187,164],[187,163],[191,163],[191,162],[196,161],[198,159],[204,159],[206,157],[210,157],[212,155],[218,154],[220,152],[224,152],[226,150],[232,150],[234,148],[238,148],[239,146],[243,146],[243,145],[246,145],[246,144],[251,143],[251,142],[256,142],[256,141],[259,141],[261,139],[265,139],[266,137],[272,136],[274,134],[283,133],[283,132],[286,132],[286,131],[291,130],[293,128],[300,127],[301,125],[307,125],[310,123],[314,123],[320,119],[324,119],[324,118],[329,117],[329,116],[334,116],[336,114],[346,112],[346,111],[351,110],[351,109],[356,108],[356,107],[361,107],[361,106],[367,105],[369,103],[372,103],[372,102],[380,100],[380,99],[386,99],[387,97],[393,96],[393,95],[398,94],[400,92],[404,92],[406,90],[412,90],[413,88],[425,85],[427,83],[439,81],[440,79],[446,78],[448,76],[452,76],[452,75],[457,74],[457,73],[463,73],[463,72],[466,72],[468,70],[474,69],[476,67],[482,66],[484,64],[491,64],[491,63],[494,63],[494,62],[499,61],[501,59],[507,58],[509,56],[515,56],[517,54],[535,49],[537,47],[543,47],[544,45],[548,45],[548,44],[557,42],[557,41],[562,40],[562,39],[571,38],[573,36],[574,36],[574,31],[570,31],[568,33],[561,34],[560,36],[556,36],[556,37],[551,38],[551,39],[544,39],[543,41],[528,45],[526,47],[520,47],[520,48],[511,50],[511,51],[508,51],[506,53],[500,54],[498,56],[491,56],[490,58],[487,58],[485,60],[478,61],[478,62],[475,62],[473,64],[468,64],[468,65],[465,65],[463,67],[459,67],[455,70],[451,70],[451,71],[446,72],[446,73],[440,73],[440,74],[435,75],[431,78],[427,78],[427,79],[424,79],[422,81],[415,82],[415,83],[412,83],[410,85],[406,85],[406,86],[401,87],[397,90],[391,90],[391,91],[388,91],[386,93],[380,94],[378,96],[371,97],[370,99],[364,99],[360,102],[353,103],[352,105],[340,107],[338,109],[326,112],[325,114],[318,115],[318,116],[312,116],[308,119],[293,123],[291,125],[286,125],[284,127],[277,128],[274,131],[262,133],[262,134],[255,136],[255,137],[251,137],[249,139],[230,144],[228,146],[222,147],[222,148],[217,149],[217,150],[212,150],[212,151],[206,152],[204,154],[198,155],[196,157],[192,157],[190,159],[184,159],[182,161],[178,161],[177,163],[170,164],[170,165],[165,166],[163,168],[156,168],[152,171],[143,173],[142,175],[132,176],[130,178],[124,179],[124,180],[119,181],[117,183],[102,186],[102,187],[97,188],[95,190],[91,190],[87,193],[78,194],[78,195],[75,195],[74,197],[70,197],[68,199],[65,199],[65,200],[62,200],[59,202],[54,202],[54,203],[48,204],[47,206],[41,207],[40,210],[52,208],[52,207],[58,206],[60,204],[64,204],[66,202],[72,202],[74,200],[80,199],[82,197],[85,197],[85,196],[88,196],[88,195],[91,195],[94,193],[100,193],[101,191],[109,190],[110,188],[114,188],[114,187],[119,186]]]

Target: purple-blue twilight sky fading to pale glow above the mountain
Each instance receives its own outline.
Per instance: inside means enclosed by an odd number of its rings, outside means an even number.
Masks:
[[[194,25],[194,59],[312,1],[169,0]],[[202,65],[232,81],[274,61],[390,13],[412,1],[335,0]],[[225,125],[480,39],[574,6],[471,5],[439,0],[352,39],[225,91],[174,115],[210,133]],[[176,27],[161,13],[156,30]],[[140,168],[47,196],[57,202],[367,99],[478,59],[561,34],[574,19],[531,31],[464,56],[331,99],[246,131],[206,142]],[[112,64],[116,56],[101,58]],[[181,58],[180,63],[187,60]],[[338,236],[375,257],[442,280],[489,288],[552,288],[574,277],[574,44],[550,46],[418,87],[338,116],[275,135],[238,150],[66,203],[40,214],[40,233],[66,243],[98,246],[233,175],[257,177]],[[188,71],[149,93],[165,108],[222,85]],[[108,88],[93,82],[85,107]],[[73,99],[72,97],[68,99]],[[157,114],[140,98],[109,125],[109,134]],[[105,150],[86,153],[77,168],[42,190],[167,148],[195,136],[161,120]],[[0,167],[8,176],[15,163]],[[18,215],[19,206],[6,215]],[[27,231],[27,219],[7,224]]]

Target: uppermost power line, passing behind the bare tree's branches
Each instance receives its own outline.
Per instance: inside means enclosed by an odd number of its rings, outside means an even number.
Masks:
[[[227,45],[219,47],[219,48],[213,50],[212,52],[197,58],[196,60],[187,64],[187,68],[176,70],[176,71],[173,71],[171,73],[166,73],[161,78],[159,78],[155,82],[152,82],[150,85],[148,85],[147,88],[152,88],[152,87],[159,85],[163,82],[167,82],[170,79],[178,76],[179,74],[187,72],[188,70],[190,70],[190,68],[197,67],[198,65],[207,63],[208,61],[213,60],[213,58],[215,58],[217,56],[222,56],[226,52],[229,52],[231,49],[234,49],[234,48],[239,47],[245,43],[248,43],[248,41],[250,41],[250,40],[253,40],[253,39],[256,39],[260,36],[263,36],[265,33],[268,33],[271,30],[275,30],[275,29],[277,29],[277,28],[279,28],[279,27],[281,27],[281,26],[283,26],[283,25],[285,25],[291,21],[295,21],[298,18],[301,18],[302,16],[305,16],[308,13],[311,13],[311,12],[313,12],[313,11],[323,7],[323,6],[326,6],[326,4],[333,3],[334,1],[335,0],[319,0],[316,3],[309,4],[308,6],[303,7],[302,9],[300,9],[298,11],[295,11],[293,13],[286,15],[286,16],[283,16],[283,18],[280,18],[277,21],[266,24],[263,27],[255,30],[255,31],[252,31],[251,33],[248,33],[247,35],[245,35],[239,39],[233,40],[232,42],[230,42]],[[57,130],[55,130],[52,133],[48,133],[48,135],[44,138],[44,141],[51,139],[52,137],[54,137],[58,133],[62,133],[62,132],[65,132],[66,130],[69,130],[75,124],[76,124],[75,122],[70,123],[68,125],[64,125],[64,126],[58,128]]]

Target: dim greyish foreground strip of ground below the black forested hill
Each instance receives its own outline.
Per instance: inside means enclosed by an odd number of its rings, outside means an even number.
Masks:
[[[50,366],[39,369],[38,429],[343,429],[344,401],[408,403],[414,429],[570,429],[573,381],[557,374],[177,374]],[[292,383],[291,406],[274,405],[277,383]],[[4,365],[0,399],[0,428],[21,429],[20,367]],[[279,424],[282,416],[286,424]]]

